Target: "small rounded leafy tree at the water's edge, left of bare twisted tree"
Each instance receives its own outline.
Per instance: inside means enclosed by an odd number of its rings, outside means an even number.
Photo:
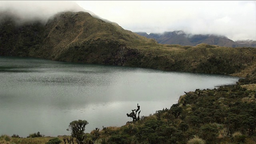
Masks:
[[[89,124],[86,120],[75,120],[70,122],[68,131],[71,131],[71,136],[76,138],[78,144],[83,144],[85,138],[85,126]]]

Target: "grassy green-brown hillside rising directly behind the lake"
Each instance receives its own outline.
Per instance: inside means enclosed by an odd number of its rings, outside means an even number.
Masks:
[[[46,23],[23,24],[15,22],[16,16],[5,14],[0,22],[2,56],[236,76],[246,76],[256,67],[254,48],[158,44],[88,12],[60,12]]]

